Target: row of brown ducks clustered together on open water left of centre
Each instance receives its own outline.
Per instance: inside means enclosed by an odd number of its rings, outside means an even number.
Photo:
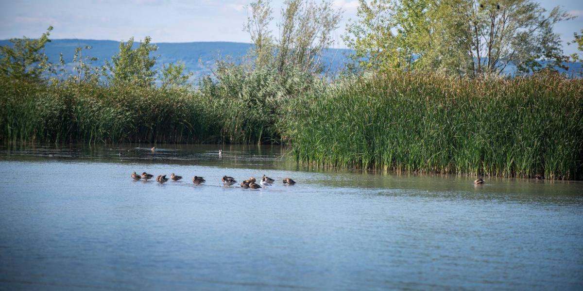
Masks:
[[[138,181],[138,180],[149,180],[154,178],[154,175],[143,172],[142,175],[138,175],[136,172],[132,173],[132,179]],[[166,178],[166,175],[159,175],[156,177],[156,182],[162,184],[162,183],[166,183],[168,180],[173,180],[173,181],[178,181],[182,179],[182,176],[178,176],[178,175],[174,175],[174,173],[172,173],[170,175],[170,179]],[[223,178],[221,178],[221,181],[223,182],[224,186],[231,186],[235,183],[237,183],[237,181],[235,180],[235,178],[233,177],[229,177],[229,176],[223,176]],[[199,176],[194,176],[194,178],[192,178],[192,183],[195,184],[202,184],[205,183],[206,180],[203,179],[202,177]],[[262,187],[265,186],[271,186],[273,182],[275,182],[275,180],[263,175],[263,177],[261,178],[261,181],[259,182],[259,184],[256,184],[255,182],[257,182],[257,179],[255,179],[254,177],[251,177],[247,180],[244,180],[243,182],[241,182],[241,188],[243,189],[261,189]],[[284,184],[288,184],[288,185],[293,185],[296,182],[290,178],[285,178],[283,179],[283,183]]]

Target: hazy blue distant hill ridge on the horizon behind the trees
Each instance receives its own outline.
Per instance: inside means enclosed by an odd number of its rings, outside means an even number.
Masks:
[[[8,40],[0,40],[0,45],[9,45]],[[251,47],[251,44],[241,42],[158,42],[157,55],[160,55],[156,62],[156,68],[161,68],[162,64],[182,61],[188,70],[194,73],[193,79],[199,79],[205,74],[211,74],[210,69],[219,59],[233,59],[240,62]],[[136,44],[137,45],[137,44]],[[120,47],[119,41],[111,40],[51,40],[45,45],[45,54],[48,55],[52,63],[59,62],[59,54],[63,54],[65,62],[71,62],[76,47],[90,46],[92,49],[85,50],[87,56],[94,56],[98,59],[96,65],[104,65],[105,61],[111,61],[111,56],[117,54]],[[324,52],[323,63],[332,72],[342,68],[346,61],[345,54],[348,49],[328,49]],[[200,61],[199,61],[200,60]]]

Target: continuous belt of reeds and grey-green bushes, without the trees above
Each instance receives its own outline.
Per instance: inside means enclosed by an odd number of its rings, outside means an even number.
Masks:
[[[308,86],[308,75],[230,72],[196,90],[0,79],[0,137],[290,142],[298,161],[334,168],[582,178],[583,80],[395,73]]]

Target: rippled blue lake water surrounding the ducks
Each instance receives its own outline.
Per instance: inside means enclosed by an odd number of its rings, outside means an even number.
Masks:
[[[582,182],[475,186],[218,148],[0,147],[0,289],[583,288]],[[276,183],[220,184],[263,174]]]

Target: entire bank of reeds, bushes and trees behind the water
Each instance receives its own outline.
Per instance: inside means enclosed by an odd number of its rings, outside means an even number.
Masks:
[[[345,36],[353,63],[328,74],[341,11],[286,1],[275,37],[271,2],[257,0],[248,55],[196,84],[184,63],[156,69],[149,37],[121,42],[106,65],[90,47],[51,63],[49,27],[0,47],[0,141],[285,143],[322,167],[583,179],[583,80],[558,73],[567,57],[553,31],[571,16],[533,0],[444,3],[360,1]],[[502,74],[510,63],[514,78]]]

